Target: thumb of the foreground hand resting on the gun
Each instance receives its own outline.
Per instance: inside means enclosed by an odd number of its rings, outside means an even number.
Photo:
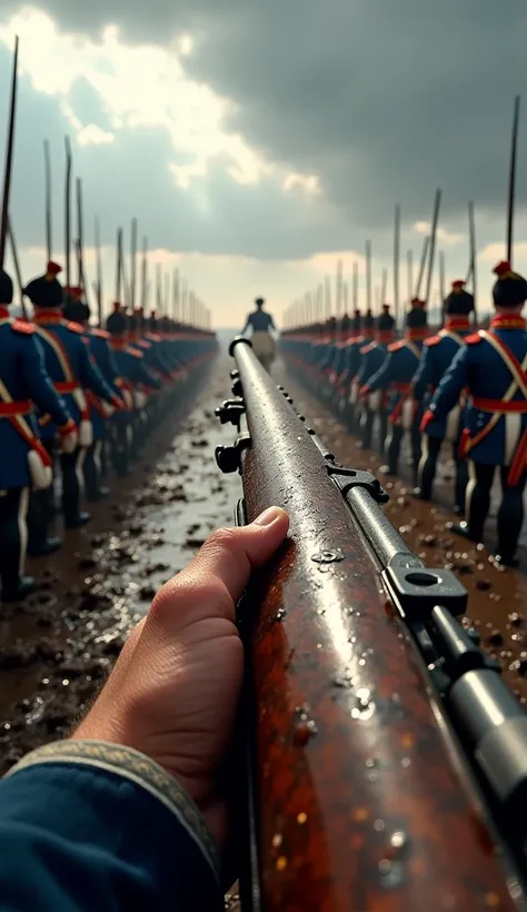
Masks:
[[[192,584],[208,584],[215,578],[236,601],[246,588],[251,572],[261,567],[281,545],[288,528],[287,513],[280,507],[269,507],[248,526],[218,529],[176,578]]]

